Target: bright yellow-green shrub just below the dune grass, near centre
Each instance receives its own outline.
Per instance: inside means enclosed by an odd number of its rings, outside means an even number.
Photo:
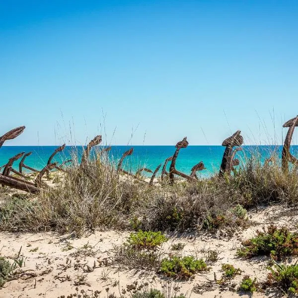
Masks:
[[[128,237],[127,244],[136,249],[154,249],[168,239],[161,232],[141,231],[131,233]]]

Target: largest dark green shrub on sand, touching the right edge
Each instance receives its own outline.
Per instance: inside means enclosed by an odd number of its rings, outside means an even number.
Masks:
[[[291,233],[288,228],[270,225],[267,232],[257,231],[257,236],[242,242],[243,247],[237,255],[252,258],[258,255],[271,255],[280,260],[282,257],[298,254],[298,234]]]

